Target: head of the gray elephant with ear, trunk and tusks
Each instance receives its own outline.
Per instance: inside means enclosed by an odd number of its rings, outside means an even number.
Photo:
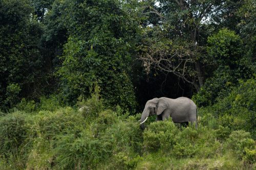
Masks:
[[[145,108],[140,118],[140,127],[145,129],[144,122],[148,116],[160,115],[167,108],[167,103],[163,99],[154,98],[146,102]]]

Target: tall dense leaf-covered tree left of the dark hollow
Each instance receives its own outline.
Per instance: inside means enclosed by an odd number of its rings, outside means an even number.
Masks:
[[[62,93],[69,103],[81,94],[88,98],[97,82],[106,105],[134,111],[130,52],[136,28],[122,27],[133,25],[122,5],[125,3],[120,1],[69,3],[66,17],[70,36],[58,69]]]

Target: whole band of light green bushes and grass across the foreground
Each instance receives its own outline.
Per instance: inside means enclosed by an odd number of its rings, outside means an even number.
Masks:
[[[217,104],[199,109],[198,129],[169,119],[153,120],[142,131],[140,114],[105,109],[98,92],[78,101],[82,110],[53,110],[54,99],[42,99],[33,110],[22,101],[19,111],[0,117],[0,168],[252,169],[255,84],[240,82]]]

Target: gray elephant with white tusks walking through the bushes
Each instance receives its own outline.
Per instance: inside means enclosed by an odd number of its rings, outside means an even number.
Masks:
[[[156,121],[172,117],[174,123],[194,123],[197,128],[197,106],[185,97],[177,99],[155,98],[146,102],[140,121],[141,129],[150,115],[157,114]]]

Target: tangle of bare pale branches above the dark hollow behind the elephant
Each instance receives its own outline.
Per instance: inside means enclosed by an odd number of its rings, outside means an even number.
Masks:
[[[142,60],[147,74],[152,68],[170,72],[199,90],[196,81],[198,75],[193,69],[196,61],[190,57],[194,56],[194,52],[188,50],[188,48],[193,48],[192,46],[183,47],[172,45],[172,43],[150,41],[144,42],[141,47],[143,52],[139,55],[139,59]]]

